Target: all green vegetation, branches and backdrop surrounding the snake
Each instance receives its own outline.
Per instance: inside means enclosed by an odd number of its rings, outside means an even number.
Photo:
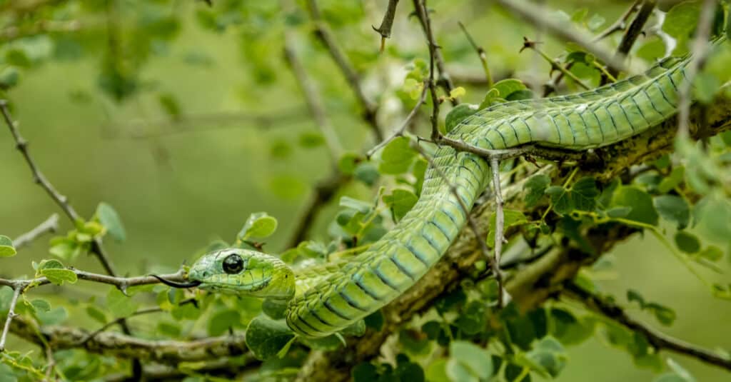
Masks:
[[[148,276],[226,247],[352,259],[422,195],[436,147],[417,136],[698,54],[728,1],[531,6],[588,46],[510,1],[207,2],[0,0],[0,381],[729,377],[728,43],[693,73],[686,132],[502,161],[504,218],[488,187],[477,240],[341,333]],[[504,285],[484,253],[500,220]]]

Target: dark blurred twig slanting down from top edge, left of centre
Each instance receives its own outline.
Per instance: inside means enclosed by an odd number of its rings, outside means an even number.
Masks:
[[[307,9],[315,26],[315,35],[322,44],[325,45],[327,52],[330,53],[330,57],[332,57],[333,61],[335,61],[338,65],[338,68],[340,68],[340,71],[345,76],[345,80],[349,84],[350,89],[352,89],[353,93],[355,93],[355,98],[363,108],[363,119],[371,127],[371,131],[376,137],[376,140],[379,142],[383,141],[383,132],[381,131],[378,119],[376,118],[378,106],[366,97],[366,93],[363,91],[363,86],[360,85],[360,76],[357,74],[352,64],[348,61],[345,53],[343,53],[343,51],[338,47],[335,37],[333,36],[333,32],[330,31],[325,20],[322,20],[319,7],[317,7],[317,0],[307,0]]]

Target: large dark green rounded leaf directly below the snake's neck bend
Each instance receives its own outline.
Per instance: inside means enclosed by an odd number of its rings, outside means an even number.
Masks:
[[[283,321],[274,321],[259,315],[246,328],[246,346],[257,359],[270,359],[276,356],[295,334]]]

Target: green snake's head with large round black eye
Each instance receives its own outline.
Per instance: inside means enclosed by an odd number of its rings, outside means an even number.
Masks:
[[[198,288],[208,291],[271,299],[291,299],[295,295],[295,274],[287,264],[274,256],[240,248],[203,255],[191,266],[188,280],[200,282]]]

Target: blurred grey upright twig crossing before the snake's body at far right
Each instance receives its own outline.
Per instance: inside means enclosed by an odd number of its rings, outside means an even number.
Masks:
[[[681,89],[678,91],[678,97],[680,98],[680,105],[678,105],[678,136],[681,139],[685,139],[689,135],[690,92],[695,75],[700,70],[702,63],[705,61],[705,55],[708,53],[708,36],[711,34],[711,23],[713,22],[713,11],[715,9],[715,0],[703,1],[695,40],[693,40],[691,48],[693,58],[685,69],[686,80],[681,83]]]

